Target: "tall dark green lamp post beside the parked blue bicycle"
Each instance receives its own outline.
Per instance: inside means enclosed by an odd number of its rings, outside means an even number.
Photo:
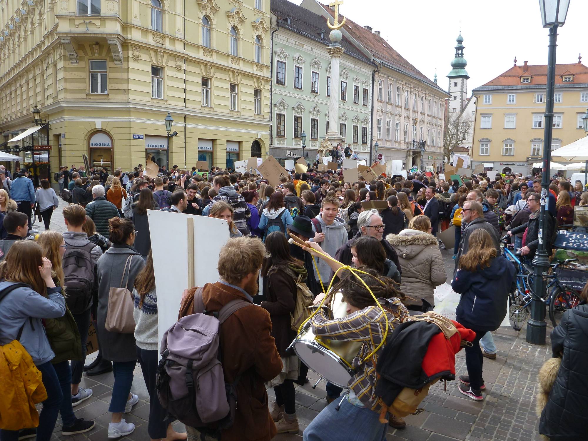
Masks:
[[[543,134],[543,173],[541,175],[541,208],[539,213],[539,245],[533,259],[533,289],[537,299],[543,299],[546,290],[543,275],[549,268],[546,243],[543,238],[548,216],[547,204],[549,203],[549,167],[551,160],[551,143],[553,131],[553,95],[555,86],[557,28],[563,26],[566,21],[567,8],[570,0],[539,0],[543,27],[549,28],[549,54],[547,56],[547,96],[545,102],[544,134]],[[533,299],[531,303],[531,315],[527,321],[527,342],[534,345],[544,345],[547,333],[545,322],[545,303],[542,300]]]

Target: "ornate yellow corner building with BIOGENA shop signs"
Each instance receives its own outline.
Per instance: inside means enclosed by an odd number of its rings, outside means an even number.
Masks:
[[[25,163],[31,145],[50,145],[35,148],[35,161],[50,163],[41,176],[81,165],[82,153],[123,171],[153,157],[183,168],[267,155],[269,0],[1,6],[0,142],[24,150]],[[31,128],[35,105],[48,130],[6,143]],[[168,112],[178,132],[169,144]]]

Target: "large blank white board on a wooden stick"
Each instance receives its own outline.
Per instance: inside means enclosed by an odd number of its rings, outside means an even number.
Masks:
[[[159,344],[163,333],[178,321],[182,293],[188,286],[188,253],[194,256],[194,286],[218,282],[220,248],[229,240],[226,220],[148,210],[157,309]],[[193,251],[188,243],[188,219],[193,219]]]

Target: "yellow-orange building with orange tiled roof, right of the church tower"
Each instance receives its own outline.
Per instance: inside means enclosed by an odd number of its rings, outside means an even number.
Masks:
[[[554,95],[552,156],[556,149],[586,136],[582,116],[588,107],[588,68],[579,61],[558,64]],[[525,61],[473,90],[476,119],[473,167],[530,173],[543,156],[547,65]]]

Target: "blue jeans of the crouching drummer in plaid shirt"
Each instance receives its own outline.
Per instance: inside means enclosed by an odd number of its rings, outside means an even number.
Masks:
[[[339,400],[323,409],[306,427],[303,441],[386,441],[387,423],[366,407],[352,405],[347,398],[335,410]]]

